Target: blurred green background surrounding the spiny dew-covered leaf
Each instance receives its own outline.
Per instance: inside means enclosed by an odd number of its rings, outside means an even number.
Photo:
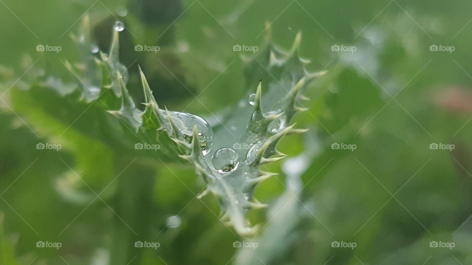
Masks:
[[[0,2],[1,264],[472,264],[472,2]],[[327,73],[306,88],[308,111],[295,116],[297,127],[310,131],[282,140],[279,149],[292,159],[269,164],[280,174],[256,189],[276,213],[250,213],[263,227],[256,238],[239,238],[220,222],[214,197],[195,198],[204,184],[189,165],[130,163],[132,155],[79,136],[70,148],[47,122],[15,109],[10,93],[36,66],[73,79],[64,62],[80,58],[70,34],[85,13],[103,51],[114,22],[124,23],[120,58],[135,101],[143,101],[132,85],[140,65],[161,106],[210,122],[255,91],[258,79],[245,72],[264,71],[245,68],[240,55],[251,53],[234,45],[261,46],[270,31],[289,49],[302,33],[307,69]],[[40,44],[62,49],[40,53]],[[447,47],[454,51],[441,51]],[[69,108],[65,100],[54,106]],[[96,132],[97,111],[69,123]],[[63,149],[36,149],[51,139]],[[355,150],[333,149],[336,143]],[[452,150],[442,149],[447,145]],[[82,154],[70,152],[80,146]],[[88,185],[77,182],[75,170]],[[279,215],[276,202],[291,174],[301,176],[303,189],[295,205],[287,201],[294,211]],[[160,247],[136,254],[121,248],[136,240]],[[234,247],[243,240],[259,247]]]

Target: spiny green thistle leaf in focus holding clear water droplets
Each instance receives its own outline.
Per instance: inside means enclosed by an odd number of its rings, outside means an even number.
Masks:
[[[264,106],[263,110],[263,82],[261,79],[257,91],[253,95],[254,98],[250,102],[253,107],[249,115],[246,117],[242,114],[233,115],[225,120],[233,128],[244,129],[243,132],[236,132],[235,134],[225,124],[221,124],[216,125],[220,126],[219,132],[213,136],[212,129],[204,119],[185,112],[169,111],[167,108],[165,110],[160,109],[141,69],[140,76],[146,102],[143,103],[145,105],[144,110],[136,107],[126,87],[127,70],[118,61],[118,30],[113,31],[110,52],[108,54],[100,53],[100,58],[95,58],[88,50],[92,46],[88,16],[85,16],[81,28],[79,36],[74,36],[73,39],[78,44],[84,61],[75,68],[70,63],[65,64],[76,78],[78,91],[80,92],[79,95],[72,92],[73,98],[83,99],[85,104],[88,105],[87,108],[92,106],[95,101],[99,101],[101,103],[99,108],[102,108],[103,111],[107,110],[107,106],[118,106],[117,110],[108,109],[107,111],[122,120],[124,127],[134,129],[133,131],[139,134],[139,141],[159,144],[162,149],[156,152],[157,156],[169,157],[177,153],[180,158],[191,162],[196,172],[207,183],[207,189],[203,194],[211,192],[220,202],[222,220],[229,221],[228,223],[233,225],[236,232],[241,236],[254,235],[257,232],[257,227],[250,226],[249,220],[246,218],[246,212],[250,209],[266,207],[265,204],[253,198],[254,188],[260,182],[274,175],[262,171],[260,165],[277,161],[286,156],[275,149],[278,141],[283,136],[290,133],[305,132],[305,130],[294,129],[294,125],[290,125],[290,121],[296,112],[304,110],[295,106],[295,103],[305,98],[300,92],[312,79],[319,75],[319,73],[308,73],[303,67],[308,61],[298,57],[297,49],[301,34],[296,36],[292,49],[288,52],[275,47],[269,36],[261,53],[262,58],[245,59],[249,66],[253,65],[255,61],[259,63],[264,61],[267,69],[279,73],[280,78],[277,81],[269,82],[267,85],[271,88],[268,91],[267,98],[279,97],[284,89],[286,90],[286,96],[272,100],[271,104]],[[47,88],[42,90],[44,89]],[[52,93],[50,91],[46,92],[48,94],[41,91],[35,96],[23,95],[36,93],[35,90],[35,88],[30,88],[29,92],[20,92],[22,95],[18,96],[17,101],[14,101],[15,106],[19,110],[28,112],[31,115],[31,120],[44,123],[40,127],[49,130],[48,134],[57,134],[64,130],[59,133],[59,137],[68,141],[68,146],[75,149],[75,154],[85,155],[85,157],[81,155],[76,157],[77,163],[84,167],[84,170],[81,170],[82,173],[92,175],[96,172],[93,166],[88,165],[90,160],[96,162],[98,159],[102,165],[113,161],[111,151],[104,154],[110,147],[104,146],[96,140],[96,138],[108,139],[110,142],[109,129],[100,130],[99,133],[103,133],[103,135],[93,135],[92,138],[89,138],[80,132],[75,132],[73,129],[64,128],[56,120],[57,113],[63,113],[63,111],[59,108],[49,108],[52,111],[43,113],[42,110],[45,107],[44,105],[50,106],[54,102],[58,104],[60,101],[58,96],[50,95]],[[25,98],[28,97],[33,97],[35,102],[26,102]],[[44,104],[41,99],[48,103]],[[74,99],[68,100],[74,101]],[[78,103],[73,102],[71,105],[77,105]],[[33,109],[32,106],[35,105],[43,106]],[[237,113],[247,113],[249,109],[248,106],[241,105],[235,106],[235,108]],[[80,110],[73,112],[70,108],[65,114],[81,115]],[[89,119],[99,120],[98,117],[89,117]],[[98,121],[100,124],[109,120],[108,117],[100,117],[100,119],[102,119]],[[94,121],[91,122],[94,123]],[[82,130],[89,131],[86,128]],[[116,131],[113,134],[126,135]],[[222,134],[226,135],[222,136]],[[234,137],[228,136],[228,134]],[[219,136],[221,138],[218,138]],[[129,140],[126,138],[116,138],[116,143],[119,143],[120,148],[126,148],[127,142]],[[84,145],[85,143],[87,144]],[[87,152],[81,150],[85,146],[88,148]],[[153,154],[153,156],[155,155]],[[149,156],[149,158],[153,159],[153,156]],[[100,174],[111,176],[107,172],[100,172]],[[101,179],[107,180],[105,178]],[[69,187],[64,186],[64,188]],[[71,188],[68,189],[68,191],[71,190]]]

